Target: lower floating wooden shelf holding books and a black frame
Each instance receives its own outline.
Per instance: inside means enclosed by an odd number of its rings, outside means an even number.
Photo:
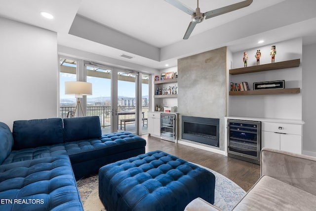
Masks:
[[[263,95],[263,94],[298,94],[300,93],[300,88],[271,88],[271,89],[259,89],[259,90],[249,90],[249,91],[230,91],[229,95]]]

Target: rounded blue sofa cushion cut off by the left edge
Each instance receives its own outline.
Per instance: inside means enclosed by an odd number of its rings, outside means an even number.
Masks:
[[[0,164],[8,157],[13,146],[13,136],[10,128],[0,123]]]

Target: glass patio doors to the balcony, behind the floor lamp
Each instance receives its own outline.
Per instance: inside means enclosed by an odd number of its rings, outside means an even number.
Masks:
[[[84,114],[99,116],[102,133],[147,133],[149,75],[60,56],[60,117],[71,118],[76,98],[65,95],[65,82],[92,84],[92,95],[80,99]],[[77,116],[77,115],[76,115]]]

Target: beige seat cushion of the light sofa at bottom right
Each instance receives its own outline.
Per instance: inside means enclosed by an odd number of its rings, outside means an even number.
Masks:
[[[262,176],[234,211],[315,211],[316,196],[270,176]]]

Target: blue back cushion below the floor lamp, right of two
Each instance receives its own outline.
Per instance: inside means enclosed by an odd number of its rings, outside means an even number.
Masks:
[[[101,124],[98,116],[64,119],[65,142],[100,138]]]

